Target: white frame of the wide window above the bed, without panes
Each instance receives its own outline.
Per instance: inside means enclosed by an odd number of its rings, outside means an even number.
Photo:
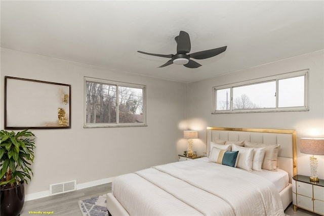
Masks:
[[[253,112],[294,112],[294,111],[309,111],[309,90],[308,90],[308,74],[309,69],[299,70],[289,73],[278,74],[274,76],[262,77],[258,79],[251,79],[242,82],[230,83],[226,85],[220,85],[213,87],[213,107],[212,114],[221,114],[221,113],[253,113]],[[298,76],[304,76],[304,106],[297,107],[278,107],[278,81],[280,79],[293,78]],[[233,88],[241,87],[244,85],[258,84],[262,82],[276,81],[276,105],[274,108],[261,108],[261,109],[242,109],[242,110],[233,110]],[[230,89],[230,105],[229,110],[216,110],[217,109],[217,90]]]

